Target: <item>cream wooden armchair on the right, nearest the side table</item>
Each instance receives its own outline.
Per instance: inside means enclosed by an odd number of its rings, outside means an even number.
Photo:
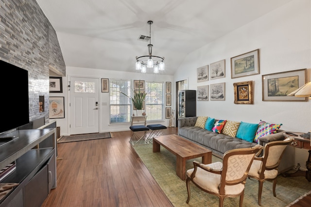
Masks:
[[[265,180],[273,180],[273,195],[276,197],[276,176],[278,165],[283,156],[285,147],[292,143],[294,138],[287,138],[283,141],[267,143],[263,148],[263,156],[255,157],[248,172],[248,177],[259,181],[258,204],[261,206],[261,192]]]

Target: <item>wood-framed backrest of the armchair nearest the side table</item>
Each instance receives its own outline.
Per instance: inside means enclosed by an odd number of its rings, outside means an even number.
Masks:
[[[264,178],[265,170],[277,169],[286,146],[292,143],[293,140],[294,138],[288,137],[283,141],[270,142],[264,146],[262,163],[259,169],[259,174],[261,178]]]

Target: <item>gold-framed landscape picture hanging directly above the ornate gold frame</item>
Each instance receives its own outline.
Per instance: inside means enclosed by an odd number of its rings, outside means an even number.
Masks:
[[[231,79],[259,74],[259,49],[231,58]]]

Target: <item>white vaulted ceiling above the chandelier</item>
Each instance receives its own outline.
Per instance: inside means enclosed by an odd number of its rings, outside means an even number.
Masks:
[[[165,57],[173,75],[191,51],[291,0],[37,0],[55,29],[66,66],[135,72],[135,57]]]

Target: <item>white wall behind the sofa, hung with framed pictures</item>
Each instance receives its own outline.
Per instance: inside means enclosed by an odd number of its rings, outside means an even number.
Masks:
[[[231,79],[230,58],[259,48],[260,74]],[[225,59],[225,78],[198,83],[196,68]],[[225,101],[198,101],[197,115],[259,123],[282,123],[281,129],[311,130],[311,101],[262,101],[261,76],[307,68],[311,80],[311,2],[293,0],[259,19],[190,53],[174,75],[174,81],[189,77],[189,89],[225,82]],[[254,81],[254,104],[234,104],[234,82]],[[307,150],[296,149],[295,163],[302,168]],[[305,168],[305,167],[304,167]]]

